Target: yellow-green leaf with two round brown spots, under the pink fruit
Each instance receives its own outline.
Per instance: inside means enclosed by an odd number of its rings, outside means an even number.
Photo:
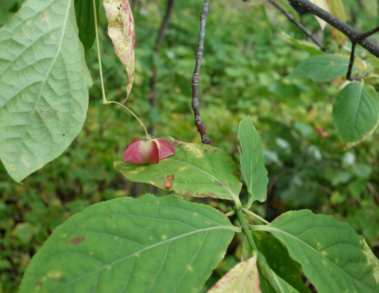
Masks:
[[[114,169],[130,181],[150,183],[180,195],[239,202],[241,171],[230,156],[208,144],[164,138],[174,146],[174,155],[150,165],[126,163],[120,155],[113,161]]]

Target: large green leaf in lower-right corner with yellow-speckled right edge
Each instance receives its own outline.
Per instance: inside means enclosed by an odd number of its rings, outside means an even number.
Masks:
[[[379,260],[347,223],[300,210],[283,213],[269,225],[252,229],[273,233],[301,264],[318,292],[379,291]]]

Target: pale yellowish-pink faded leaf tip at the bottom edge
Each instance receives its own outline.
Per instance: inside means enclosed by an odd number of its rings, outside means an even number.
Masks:
[[[262,293],[259,289],[257,254],[237,263],[207,293]]]

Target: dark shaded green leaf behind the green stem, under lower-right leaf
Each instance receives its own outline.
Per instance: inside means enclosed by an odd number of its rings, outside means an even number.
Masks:
[[[310,289],[304,285],[298,268],[280,241],[260,231],[254,231],[252,235],[258,251],[265,255],[266,261],[274,273],[299,292],[309,293]]]

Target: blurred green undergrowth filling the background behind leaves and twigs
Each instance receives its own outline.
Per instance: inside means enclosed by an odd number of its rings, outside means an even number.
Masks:
[[[22,4],[0,0],[0,25]],[[170,135],[200,143],[191,109],[191,78],[199,40],[202,0],[177,1],[163,45],[154,53],[166,1],[132,0],[136,24],[136,72],[126,103],[155,136]],[[349,24],[369,30],[378,24],[374,0],[344,0]],[[268,3],[269,23],[259,5],[241,0],[211,1],[200,70],[200,112],[213,144],[232,155],[238,153],[238,123],[250,115],[262,138],[268,169],[268,200],[254,210],[269,221],[291,209],[308,208],[348,222],[379,255],[379,137],[343,151],[332,124],[337,83],[315,83],[308,78],[285,79],[309,53],[280,38],[282,31],[305,39],[295,25]],[[302,16],[332,52],[330,26],[320,31],[315,17]],[[125,97],[127,76],[106,34],[107,20],[100,5],[100,48],[108,100]],[[379,42],[378,36],[373,36]],[[345,52],[345,51],[344,51]],[[346,52],[345,52],[346,53]],[[367,54],[358,48],[361,56]],[[83,130],[63,155],[23,180],[13,182],[0,166],[0,293],[17,291],[33,254],[52,230],[70,215],[95,202],[120,196],[154,192],[152,186],[132,183],[117,173],[112,160],[128,142],[143,135],[135,119],[117,105],[103,107],[96,49],[86,54],[94,80]],[[376,61],[378,62],[378,61]],[[379,63],[379,62],[378,62]],[[157,68],[157,107],[150,106],[150,77]],[[247,192],[243,187],[243,199]],[[206,202],[227,212],[227,202]],[[233,218],[232,218],[233,220]],[[239,236],[237,236],[238,238]],[[206,287],[229,270],[241,255],[233,240],[226,259]]]

